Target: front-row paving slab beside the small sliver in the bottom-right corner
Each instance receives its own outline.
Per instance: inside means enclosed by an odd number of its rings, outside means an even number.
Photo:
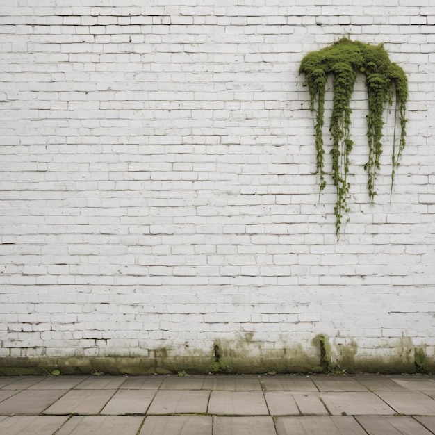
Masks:
[[[407,416],[358,416],[360,425],[370,435],[431,435],[425,427]]]

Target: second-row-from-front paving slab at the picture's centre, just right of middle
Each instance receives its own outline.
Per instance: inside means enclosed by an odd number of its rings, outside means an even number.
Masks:
[[[217,416],[267,416],[261,391],[212,391],[208,413]]]

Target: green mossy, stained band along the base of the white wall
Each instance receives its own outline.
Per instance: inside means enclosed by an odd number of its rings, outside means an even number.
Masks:
[[[279,345],[279,343],[277,343]],[[216,340],[209,352],[192,350],[189,355],[176,349],[156,349],[150,356],[126,357],[3,357],[1,375],[108,374],[140,375],[153,373],[432,373],[435,358],[425,347],[413,347],[410,338],[391,342],[385,356],[359,355],[354,340],[334,344],[334,339],[319,334],[306,349],[297,344],[266,349],[254,334],[238,334],[233,339]]]

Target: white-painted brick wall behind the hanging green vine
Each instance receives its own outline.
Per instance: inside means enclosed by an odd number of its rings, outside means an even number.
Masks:
[[[218,343],[229,366],[293,370],[317,363],[318,334],[333,362],[351,348],[368,370],[412,366],[414,349],[433,361],[431,3],[3,0],[1,364],[181,370]],[[408,146],[390,203],[388,115],[370,204],[360,77],[337,242],[298,69],[347,34],[384,42],[407,73]]]

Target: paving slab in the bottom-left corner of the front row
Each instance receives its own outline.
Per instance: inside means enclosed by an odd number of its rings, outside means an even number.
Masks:
[[[67,420],[67,416],[13,416],[0,420],[0,434],[51,435]]]

